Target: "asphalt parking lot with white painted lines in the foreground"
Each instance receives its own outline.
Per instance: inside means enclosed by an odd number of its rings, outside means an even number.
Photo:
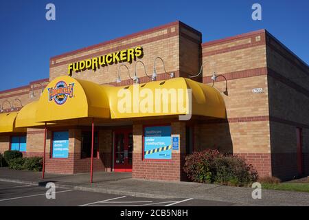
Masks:
[[[0,181],[0,206],[231,206],[233,203],[192,198],[154,199],[56,188],[47,199],[45,186]]]

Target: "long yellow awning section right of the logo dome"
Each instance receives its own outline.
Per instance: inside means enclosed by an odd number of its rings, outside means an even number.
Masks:
[[[188,78],[172,78],[125,87],[104,88],[111,118],[139,118],[163,115],[203,115],[226,118],[220,92]],[[192,108],[189,108],[189,92]],[[128,100],[128,101],[127,101]]]

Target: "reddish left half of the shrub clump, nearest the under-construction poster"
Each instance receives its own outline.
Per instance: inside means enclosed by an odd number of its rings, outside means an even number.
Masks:
[[[187,177],[199,183],[212,183],[216,174],[216,166],[214,166],[216,157],[222,157],[222,155],[219,151],[209,149],[185,157],[183,169],[187,173]]]

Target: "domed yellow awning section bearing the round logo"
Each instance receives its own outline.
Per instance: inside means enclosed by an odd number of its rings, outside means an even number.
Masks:
[[[36,122],[78,118],[110,118],[102,86],[69,76],[52,80],[38,100]]]

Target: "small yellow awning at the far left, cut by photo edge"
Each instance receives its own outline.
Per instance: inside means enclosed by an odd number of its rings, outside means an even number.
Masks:
[[[15,127],[15,119],[17,114],[18,111],[12,111],[9,113],[0,113],[0,133],[27,131],[27,129],[21,129]]]

